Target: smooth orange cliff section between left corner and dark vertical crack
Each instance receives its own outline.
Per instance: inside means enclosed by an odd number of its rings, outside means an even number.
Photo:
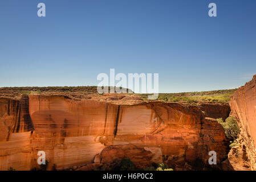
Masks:
[[[118,106],[106,102],[30,96],[29,108],[35,128],[34,151],[45,151],[58,169],[91,163],[104,148],[100,137],[113,137],[115,131]]]

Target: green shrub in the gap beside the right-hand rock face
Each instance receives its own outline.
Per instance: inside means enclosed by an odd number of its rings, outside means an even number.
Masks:
[[[238,137],[239,127],[238,127],[237,121],[234,117],[226,118],[225,122],[223,121],[222,118],[217,119],[217,121],[224,128],[225,135],[228,139],[235,140]]]

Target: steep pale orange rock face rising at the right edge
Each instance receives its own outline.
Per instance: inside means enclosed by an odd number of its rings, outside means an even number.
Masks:
[[[230,107],[241,131],[240,150],[245,148],[244,155],[249,158],[251,165],[248,168],[256,170],[256,75],[231,96]],[[246,163],[245,166],[248,164]]]

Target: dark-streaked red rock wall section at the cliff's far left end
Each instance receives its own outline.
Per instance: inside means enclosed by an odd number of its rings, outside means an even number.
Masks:
[[[28,97],[21,100],[0,99],[0,169],[31,169],[31,134]]]

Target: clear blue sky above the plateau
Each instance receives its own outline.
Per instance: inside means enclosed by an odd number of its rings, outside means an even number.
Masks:
[[[97,85],[110,68],[159,73],[166,93],[241,86],[256,74],[256,1],[0,1],[0,87]]]

